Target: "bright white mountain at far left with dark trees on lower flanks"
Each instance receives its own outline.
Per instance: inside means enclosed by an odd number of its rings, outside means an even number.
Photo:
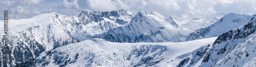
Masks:
[[[77,42],[54,23],[53,17],[56,15],[52,12],[28,19],[9,20],[9,59],[12,61],[7,66],[30,65],[30,62],[34,62],[34,58],[41,52]],[[0,33],[0,35],[4,34]]]

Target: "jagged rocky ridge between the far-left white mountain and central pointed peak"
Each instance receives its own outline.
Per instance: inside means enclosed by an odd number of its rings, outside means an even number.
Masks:
[[[90,39],[93,35],[107,32],[111,28],[128,25],[132,19],[132,15],[129,11],[125,10],[110,12],[82,11],[77,16],[77,19],[79,20],[78,23],[71,24],[71,26],[76,27],[75,32],[71,32],[71,36],[77,38],[79,41],[83,41]]]

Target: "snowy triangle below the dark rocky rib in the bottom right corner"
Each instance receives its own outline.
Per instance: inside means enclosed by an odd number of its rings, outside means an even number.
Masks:
[[[246,37],[214,66],[256,66],[256,33]]]

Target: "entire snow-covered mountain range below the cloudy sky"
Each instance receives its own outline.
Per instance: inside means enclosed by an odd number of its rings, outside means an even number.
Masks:
[[[118,10],[10,19],[10,61],[0,66],[255,66],[254,16]]]

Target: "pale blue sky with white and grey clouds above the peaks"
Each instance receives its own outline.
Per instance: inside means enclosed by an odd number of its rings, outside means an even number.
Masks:
[[[215,18],[221,13],[255,14],[256,0],[0,0],[1,19],[5,10],[9,18],[30,18],[53,11],[76,16],[82,11],[120,9],[133,14],[142,10],[158,12],[174,18]]]

